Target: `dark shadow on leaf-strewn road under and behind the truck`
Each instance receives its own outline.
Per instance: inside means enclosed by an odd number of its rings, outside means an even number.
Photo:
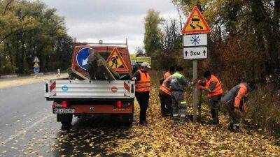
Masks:
[[[131,131],[112,117],[78,119],[57,133],[53,156],[131,156],[113,153],[118,140],[132,138]]]

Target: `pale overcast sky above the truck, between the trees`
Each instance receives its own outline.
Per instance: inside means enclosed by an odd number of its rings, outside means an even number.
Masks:
[[[125,43],[130,52],[144,47],[144,17],[148,9],[165,19],[178,17],[171,0],[42,0],[65,17],[70,36],[77,41]]]

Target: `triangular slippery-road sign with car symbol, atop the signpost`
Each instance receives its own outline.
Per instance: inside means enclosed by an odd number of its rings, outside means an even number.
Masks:
[[[193,8],[192,13],[188,16],[188,20],[182,29],[182,33],[209,33],[210,29],[204,17],[198,10],[197,6]]]

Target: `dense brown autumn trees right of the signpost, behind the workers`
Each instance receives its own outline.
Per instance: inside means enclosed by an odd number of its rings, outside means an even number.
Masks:
[[[210,53],[203,61],[205,67],[225,79],[231,77],[229,86],[240,80],[265,84],[272,76],[275,87],[280,88],[279,0],[172,1],[186,15],[198,6],[209,23]],[[230,76],[232,68],[237,77]]]

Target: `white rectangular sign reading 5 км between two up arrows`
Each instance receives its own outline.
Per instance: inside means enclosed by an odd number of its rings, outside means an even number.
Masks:
[[[184,59],[207,59],[207,47],[183,48]]]

